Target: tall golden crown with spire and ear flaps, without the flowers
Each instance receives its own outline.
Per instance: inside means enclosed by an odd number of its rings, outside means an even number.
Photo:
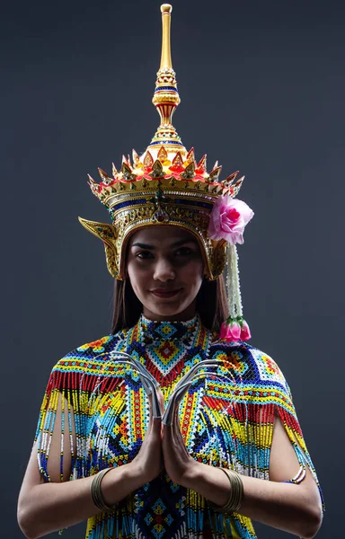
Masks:
[[[226,241],[208,237],[209,214],[219,196],[235,197],[243,182],[234,172],[219,181],[221,166],[208,173],[206,155],[195,161],[193,148],[187,152],[173,127],[173,112],[180,103],[173,71],[170,4],[161,6],[162,55],[153,103],[160,125],[143,155],[133,150],[132,162],[122,157],[119,172],[112,165],[112,177],[99,169],[101,182],[89,176],[93,194],[111,214],[112,225],[79,218],[84,227],[102,239],[112,277],[125,278],[125,246],[130,234],[150,225],[176,225],[197,236],[203,247],[205,275],[214,280],[226,264]]]

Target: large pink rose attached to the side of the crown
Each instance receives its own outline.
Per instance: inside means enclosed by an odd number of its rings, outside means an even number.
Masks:
[[[232,199],[228,195],[218,197],[210,214],[208,237],[211,240],[224,239],[232,245],[242,244],[244,226],[253,215],[243,200]]]

